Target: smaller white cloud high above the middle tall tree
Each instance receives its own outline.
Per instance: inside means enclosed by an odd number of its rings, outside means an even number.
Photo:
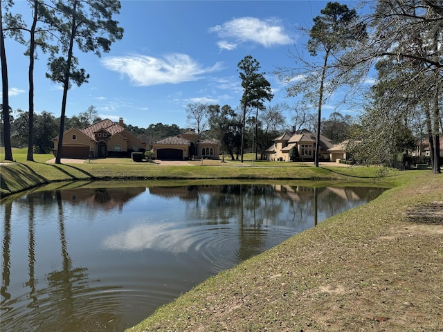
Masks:
[[[284,33],[280,21],[275,19],[260,20],[255,17],[240,17],[226,21],[221,26],[213,26],[210,33],[217,33],[223,39],[217,44],[219,48],[233,50],[242,42],[253,42],[264,47],[291,44],[292,40]],[[228,42],[233,39],[235,42]]]

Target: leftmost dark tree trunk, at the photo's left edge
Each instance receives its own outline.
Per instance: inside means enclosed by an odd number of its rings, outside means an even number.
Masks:
[[[12,161],[12,145],[11,145],[11,124],[10,124],[10,113],[9,113],[9,95],[8,95],[8,66],[6,64],[6,53],[5,53],[5,38],[3,35],[3,22],[1,13],[1,0],[0,0],[0,61],[1,61],[1,84],[3,86],[3,143],[5,145],[5,160]]]

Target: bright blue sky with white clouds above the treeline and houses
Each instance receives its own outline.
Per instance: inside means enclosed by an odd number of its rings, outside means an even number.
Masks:
[[[13,12],[30,17],[28,4],[16,0]],[[177,124],[186,128],[186,105],[194,102],[229,104],[242,96],[237,64],[246,55],[260,62],[274,98],[286,102],[284,86],[272,72],[291,66],[294,45],[306,39],[295,27],[310,27],[327,1],[121,1],[115,19],[125,29],[109,53],[97,57],[76,51],[89,83],[68,93],[66,116],[94,106],[101,118],[148,127]],[[353,7],[351,1],[346,2]],[[24,46],[6,40],[10,107],[28,110],[28,59]],[[60,116],[62,87],[45,77],[46,56],[39,51],[35,68],[35,111]],[[325,105],[323,116],[328,117]],[[288,122],[290,113],[286,114]]]

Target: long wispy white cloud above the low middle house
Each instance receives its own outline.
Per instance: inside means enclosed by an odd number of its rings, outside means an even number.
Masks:
[[[131,82],[138,86],[197,81],[202,75],[221,69],[219,62],[205,68],[188,55],[180,53],[167,55],[163,59],[147,55],[107,57],[102,64],[111,71],[128,75]]]

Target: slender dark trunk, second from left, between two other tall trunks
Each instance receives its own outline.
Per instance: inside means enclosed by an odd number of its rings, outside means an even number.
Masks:
[[[34,161],[34,51],[35,51],[35,26],[37,26],[39,2],[34,1],[34,20],[30,28],[29,44],[29,122],[28,122],[28,155],[26,160]]]

